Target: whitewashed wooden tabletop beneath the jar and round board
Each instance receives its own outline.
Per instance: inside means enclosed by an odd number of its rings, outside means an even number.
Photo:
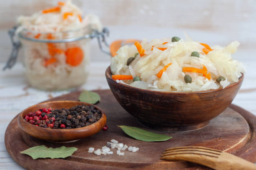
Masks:
[[[3,67],[3,64],[0,63],[0,68]],[[108,89],[109,87],[105,79],[105,69],[108,65],[109,62],[91,62],[91,74],[88,77],[88,82],[79,87],[79,89]],[[245,75],[241,90],[233,103],[256,115],[256,77],[255,73],[252,72],[256,61],[253,60],[248,65],[250,65],[248,73]],[[45,92],[28,87],[23,78],[22,71],[23,66],[18,63],[12,70],[7,70],[5,73],[1,72],[0,74],[0,169],[4,170],[23,169],[15,163],[5,149],[4,134],[10,120],[28,106],[72,91]]]

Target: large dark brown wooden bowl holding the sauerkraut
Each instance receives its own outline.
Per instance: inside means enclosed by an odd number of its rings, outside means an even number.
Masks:
[[[211,119],[223,112],[233,101],[243,82],[224,89],[199,92],[158,92],[143,90],[111,77],[110,67],[105,76],[119,104],[138,122],[154,130],[183,132],[205,127]]]

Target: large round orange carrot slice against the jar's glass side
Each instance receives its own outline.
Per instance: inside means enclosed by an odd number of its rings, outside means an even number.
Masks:
[[[84,58],[84,52],[79,47],[68,48],[65,55],[67,64],[72,66],[80,65]]]

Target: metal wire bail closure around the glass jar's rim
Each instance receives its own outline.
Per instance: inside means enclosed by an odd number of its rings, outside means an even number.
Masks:
[[[10,69],[11,67],[13,67],[13,65],[17,61],[18,52],[19,52],[20,47],[21,47],[21,42],[14,40],[14,36],[15,36],[15,32],[16,32],[17,28],[18,28],[17,26],[14,26],[12,29],[10,29],[8,31],[8,34],[10,36],[10,40],[11,40],[11,42],[13,44],[13,48],[12,48],[10,57],[8,58],[8,60],[6,62],[6,65],[3,67],[3,70],[6,70],[7,68]],[[87,35],[84,35],[82,37],[68,38],[68,39],[63,39],[63,40],[37,40],[37,39],[34,39],[34,38],[25,37],[25,36],[21,35],[20,33],[18,33],[18,36],[20,38],[23,38],[23,39],[26,39],[26,40],[35,41],[35,42],[74,42],[74,41],[78,41],[78,40],[82,40],[82,39],[97,38],[100,50],[102,52],[104,52],[105,54],[110,55],[110,52],[108,50],[104,50],[103,49],[103,45],[102,45],[102,43],[103,43],[105,45],[105,47],[109,47],[109,45],[108,45],[108,43],[106,41],[106,37],[105,37],[105,36],[109,36],[108,28],[103,28],[102,32],[99,32],[98,30],[93,30],[93,32],[91,34],[87,34]]]

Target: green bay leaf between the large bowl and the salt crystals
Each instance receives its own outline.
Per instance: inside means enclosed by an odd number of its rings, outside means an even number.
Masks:
[[[158,133],[149,132],[140,128],[118,125],[127,135],[145,142],[157,142],[157,141],[165,141],[169,140],[172,137],[167,135],[162,135]]]

